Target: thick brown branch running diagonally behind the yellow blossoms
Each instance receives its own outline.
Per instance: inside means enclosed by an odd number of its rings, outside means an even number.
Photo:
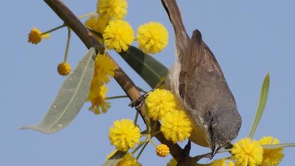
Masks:
[[[90,49],[91,47],[94,47],[96,49],[96,52],[101,52],[103,50],[102,44],[96,40],[96,38],[89,32],[89,30],[86,29],[86,27],[79,21],[79,19],[70,11],[65,4],[63,4],[60,0],[44,0],[48,6],[52,8],[52,10],[60,17],[61,20],[65,22],[65,24],[70,27],[77,36],[81,39],[81,41],[84,42],[85,46]],[[107,54],[107,56],[110,57],[110,55]],[[112,57],[110,57],[112,58]],[[113,60],[114,61],[114,60]],[[138,91],[136,85],[133,83],[133,81],[129,78],[128,75],[119,67],[119,65],[114,61],[114,64],[116,65],[116,71],[114,75],[114,79],[118,82],[118,84],[122,87],[122,89],[125,91],[127,96],[131,99],[131,101],[135,101],[137,98],[140,97],[140,91]],[[146,122],[146,115],[144,107],[142,109],[137,110],[141,117],[143,117],[143,120]],[[159,122],[158,128],[159,128]],[[173,144],[171,141],[167,141],[164,138],[164,135],[162,133],[159,133],[156,135],[156,138],[161,142],[169,146],[170,153],[173,155],[176,160],[181,159],[181,152],[182,148],[178,144]],[[192,160],[192,158],[188,157],[189,160]]]

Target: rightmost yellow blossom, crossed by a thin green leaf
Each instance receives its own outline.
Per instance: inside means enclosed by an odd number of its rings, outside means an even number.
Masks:
[[[279,139],[273,136],[263,136],[259,139],[261,145],[270,145],[280,143]],[[263,160],[261,165],[279,165],[284,158],[283,148],[263,149]]]

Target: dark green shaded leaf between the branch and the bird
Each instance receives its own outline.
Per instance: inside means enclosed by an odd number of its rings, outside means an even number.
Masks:
[[[129,46],[127,51],[119,54],[150,87],[155,87],[168,73],[168,69],[162,63],[135,46]]]

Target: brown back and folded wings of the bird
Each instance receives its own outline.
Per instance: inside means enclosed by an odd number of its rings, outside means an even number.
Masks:
[[[218,103],[224,95],[230,95],[230,101],[234,100],[223,72],[214,54],[202,41],[199,30],[193,32],[183,56],[178,90],[183,101],[192,109]]]

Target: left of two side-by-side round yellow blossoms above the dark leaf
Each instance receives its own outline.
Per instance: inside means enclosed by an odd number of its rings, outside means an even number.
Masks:
[[[124,20],[112,20],[105,28],[103,39],[107,49],[126,51],[134,40],[132,27]]]

